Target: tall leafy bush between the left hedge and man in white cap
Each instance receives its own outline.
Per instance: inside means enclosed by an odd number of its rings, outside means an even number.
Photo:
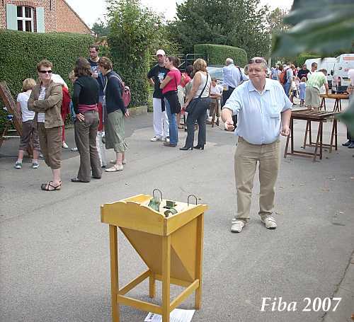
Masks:
[[[139,1],[108,0],[110,34],[108,45],[113,69],[132,91],[132,106],[147,105],[149,100],[149,52],[156,36],[159,17]]]

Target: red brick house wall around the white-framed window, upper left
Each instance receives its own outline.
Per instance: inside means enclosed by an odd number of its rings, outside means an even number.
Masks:
[[[6,4],[16,4],[16,6],[30,6],[45,8],[45,32],[69,32],[69,33],[91,33],[89,27],[85,25],[79,16],[74,13],[63,0],[0,0],[0,29],[6,28]],[[34,17],[34,28],[37,25]]]

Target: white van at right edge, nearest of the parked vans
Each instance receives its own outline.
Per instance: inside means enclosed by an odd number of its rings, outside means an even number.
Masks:
[[[354,68],[354,54],[341,54],[336,58],[333,71],[333,85],[336,93],[343,93],[350,84],[348,70]]]

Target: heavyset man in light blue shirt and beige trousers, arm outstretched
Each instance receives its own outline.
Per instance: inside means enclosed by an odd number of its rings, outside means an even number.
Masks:
[[[273,218],[275,182],[280,165],[280,134],[290,134],[292,103],[278,81],[267,78],[267,62],[261,57],[249,61],[249,81],[232,92],[222,109],[228,131],[234,130],[232,115],[238,115],[235,135],[238,144],[234,157],[237,213],[231,231],[240,233],[249,222],[253,178],[259,170],[258,214],[268,229],[275,229]]]

